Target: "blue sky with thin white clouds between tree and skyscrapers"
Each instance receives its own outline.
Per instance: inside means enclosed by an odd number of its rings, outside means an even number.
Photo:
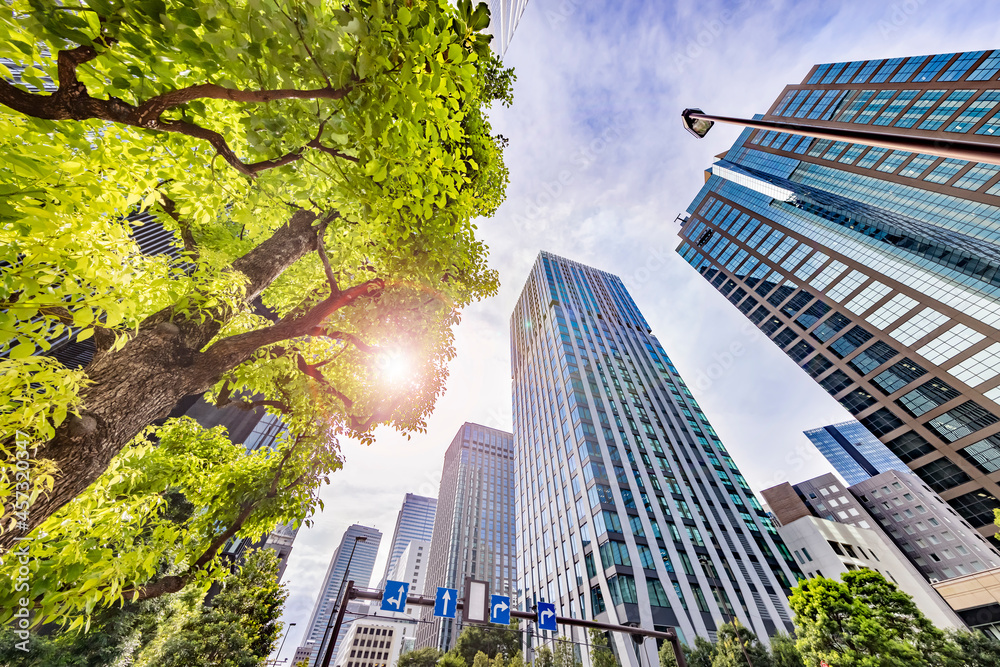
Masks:
[[[802,431],[849,415],[674,252],[674,218],[739,131],[698,141],[684,107],[763,113],[816,63],[1000,47],[981,2],[949,0],[530,0],[507,51],[514,105],[507,201],[482,221],[500,293],[469,308],[426,434],[344,443],[326,509],[299,532],[284,581],[282,657],[301,640],[333,550],[351,523],[379,528],[381,577],[403,495],[437,495],[464,421],[511,428],[508,320],[545,249],[621,276],[754,490],[830,470]]]

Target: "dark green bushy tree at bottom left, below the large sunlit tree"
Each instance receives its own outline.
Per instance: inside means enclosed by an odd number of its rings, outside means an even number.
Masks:
[[[277,646],[285,597],[274,551],[253,551],[208,605],[196,605],[195,613],[140,655],[137,664],[258,667]]]

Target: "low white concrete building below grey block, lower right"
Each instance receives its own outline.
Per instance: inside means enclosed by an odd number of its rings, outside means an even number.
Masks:
[[[805,516],[778,527],[803,574],[839,580],[850,570],[869,568],[894,582],[941,629],[965,624],[920,572],[879,533],[858,526]]]

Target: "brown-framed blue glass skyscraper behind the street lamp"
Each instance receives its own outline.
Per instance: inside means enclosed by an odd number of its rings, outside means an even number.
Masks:
[[[813,67],[763,116],[1000,146],[1000,51]],[[1000,166],[744,131],[678,252],[983,534],[1000,507]]]

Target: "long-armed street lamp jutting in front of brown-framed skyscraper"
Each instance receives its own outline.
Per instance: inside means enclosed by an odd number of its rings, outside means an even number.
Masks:
[[[799,134],[814,139],[830,139],[846,141],[868,146],[878,146],[891,150],[909,153],[926,153],[939,157],[968,160],[971,162],[986,162],[1000,165],[1000,145],[964,140],[943,140],[940,137],[919,137],[895,132],[875,132],[858,130],[853,127],[820,127],[817,125],[801,125],[774,120],[751,120],[749,118],[734,118],[732,116],[710,116],[701,109],[685,109],[681,112],[684,129],[698,137],[704,138],[716,123],[742,125],[759,130],[778,130]]]

